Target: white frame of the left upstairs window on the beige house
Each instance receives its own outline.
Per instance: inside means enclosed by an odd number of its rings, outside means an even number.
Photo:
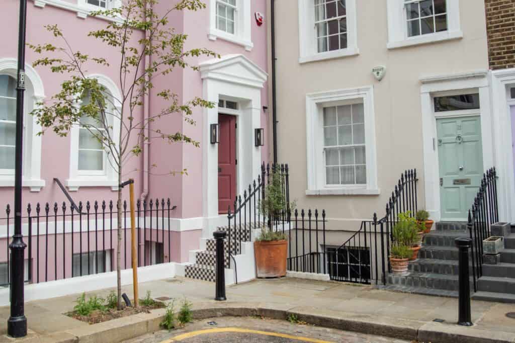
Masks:
[[[346,0],[347,7],[347,48],[318,52],[315,27],[315,1],[299,1],[299,63],[314,62],[355,56],[359,54],[357,47],[357,11],[356,0]]]

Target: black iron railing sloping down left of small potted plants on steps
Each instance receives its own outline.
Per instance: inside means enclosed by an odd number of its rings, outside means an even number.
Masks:
[[[399,213],[415,215],[417,203],[417,170],[405,170],[386,204],[386,215],[380,219],[363,220],[359,230],[338,248],[327,252],[332,280],[370,284],[386,284],[390,272],[392,228]]]

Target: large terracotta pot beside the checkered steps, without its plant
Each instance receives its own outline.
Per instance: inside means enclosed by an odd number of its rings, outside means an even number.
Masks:
[[[286,252],[288,242],[255,241],[256,276],[258,278],[280,278],[286,276]]]

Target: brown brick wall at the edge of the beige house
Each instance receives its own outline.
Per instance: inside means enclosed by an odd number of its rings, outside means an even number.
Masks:
[[[515,0],[485,0],[485,7],[490,68],[513,68],[515,67]]]

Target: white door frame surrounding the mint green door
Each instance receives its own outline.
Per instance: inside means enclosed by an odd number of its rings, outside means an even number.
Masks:
[[[443,92],[452,91],[479,93],[483,168],[486,170],[486,168],[490,168],[494,165],[490,90],[486,70],[421,77],[420,82],[422,84],[420,87],[420,102],[423,127],[425,209],[430,213],[431,218],[435,221],[439,221],[441,219],[440,168],[438,162],[436,116],[434,112],[433,96],[435,93],[440,95]]]

